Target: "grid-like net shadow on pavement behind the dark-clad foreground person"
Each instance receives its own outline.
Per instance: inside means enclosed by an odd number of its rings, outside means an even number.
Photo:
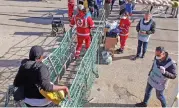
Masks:
[[[30,36],[27,36],[26,38],[22,39],[21,41],[13,45],[11,48],[9,48],[9,50],[0,57],[1,89],[6,90],[8,85],[13,82],[16,72],[18,71],[18,67],[20,66],[21,60],[28,58],[28,53],[32,46],[42,46],[45,49],[44,56],[47,56],[59,46],[59,41],[61,41],[62,38],[63,37],[51,38],[48,36],[37,36],[32,39]],[[5,95],[0,95],[0,104],[2,104]]]

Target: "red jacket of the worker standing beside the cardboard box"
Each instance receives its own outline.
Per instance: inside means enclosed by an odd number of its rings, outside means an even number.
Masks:
[[[128,36],[129,35],[129,28],[130,28],[131,22],[128,18],[121,19],[119,23],[119,29],[121,30],[120,36]]]

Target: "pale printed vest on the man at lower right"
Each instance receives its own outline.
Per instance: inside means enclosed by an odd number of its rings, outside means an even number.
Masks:
[[[167,69],[174,63],[175,62],[171,60],[164,66],[164,68]],[[157,90],[164,90],[167,86],[167,81],[168,78],[162,75],[160,68],[157,66],[156,60],[154,60],[154,65],[148,78],[148,83]]]

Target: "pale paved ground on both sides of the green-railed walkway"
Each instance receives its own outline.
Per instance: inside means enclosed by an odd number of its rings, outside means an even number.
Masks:
[[[49,18],[41,18],[51,12],[64,13],[67,20],[67,0],[37,2],[36,0],[0,0],[0,106],[4,93],[14,79],[17,67],[33,45],[42,45],[47,54],[58,46],[57,37],[49,37],[51,31]],[[60,9],[61,11],[58,11]],[[117,14],[112,13],[116,19]],[[45,16],[46,17],[46,16]],[[100,65],[100,78],[95,81],[91,97],[91,106],[133,106],[143,98],[150,70],[154,49],[162,45],[177,61],[178,27],[177,19],[155,19],[157,31],[151,37],[149,52],[145,59],[130,61],[136,53],[136,22],[132,24],[131,35],[127,41],[127,50],[122,55],[115,55],[112,65]],[[65,21],[67,23],[67,21]],[[66,25],[68,28],[68,26]],[[173,100],[176,93],[177,80],[171,80],[165,94],[167,101]],[[159,106],[153,93],[150,106]]]

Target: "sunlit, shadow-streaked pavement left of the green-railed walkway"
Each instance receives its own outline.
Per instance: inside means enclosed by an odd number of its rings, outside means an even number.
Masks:
[[[50,17],[42,16],[49,12],[64,13],[67,25],[67,0],[49,1],[0,0],[0,106],[20,61],[28,57],[31,46],[41,45],[48,54],[59,45],[60,37],[50,37]]]

